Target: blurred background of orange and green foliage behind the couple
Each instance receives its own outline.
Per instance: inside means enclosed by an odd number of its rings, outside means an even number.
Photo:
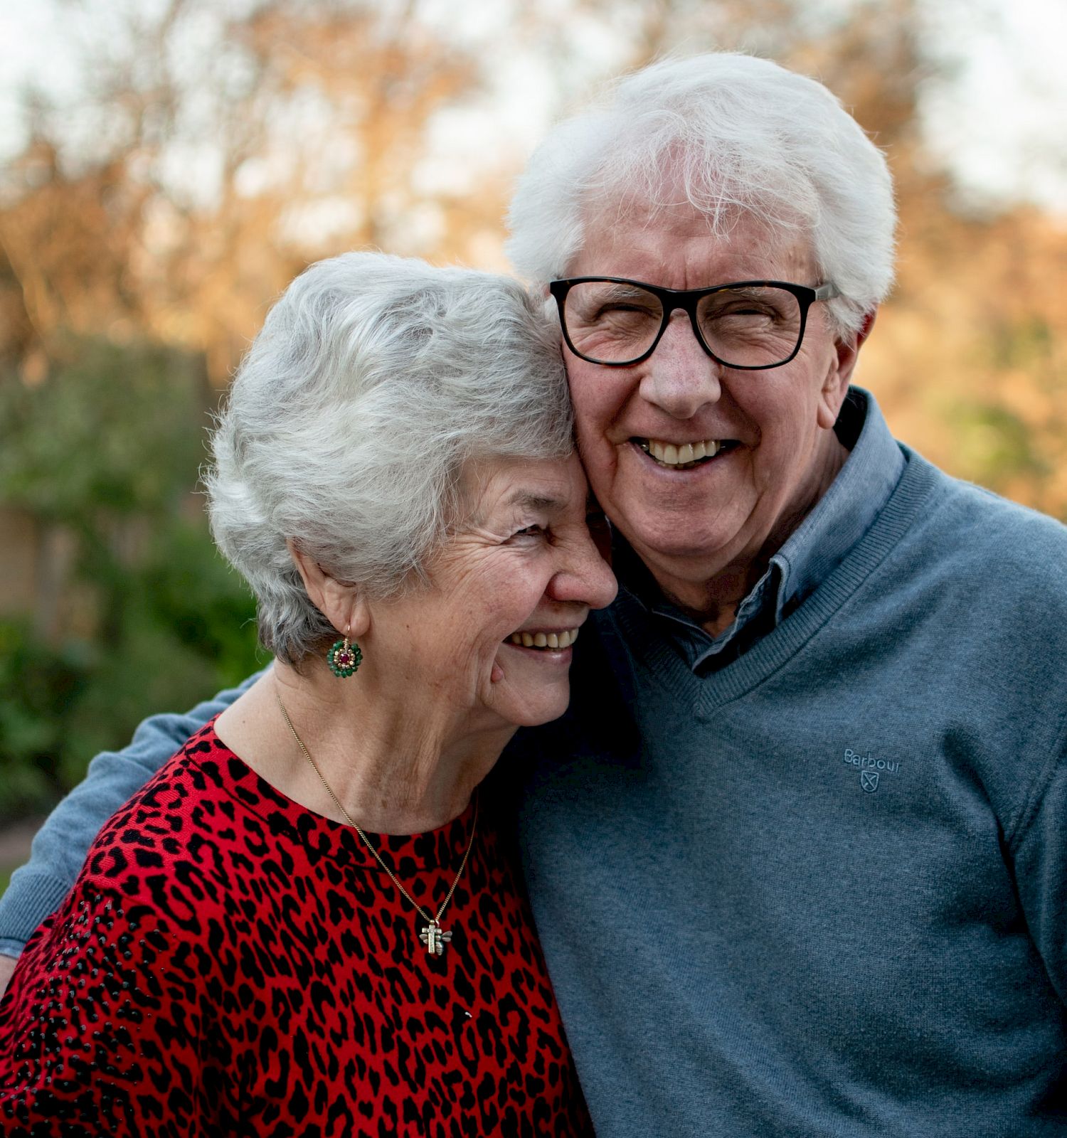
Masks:
[[[822,79],[899,189],[899,283],[860,381],[934,462],[1067,519],[1067,225],[976,208],[924,143],[953,66],[928,3],[502,0],[480,25],[432,0],[58,6],[97,14],[76,96],[25,92],[0,174],[0,826],[143,715],[264,662],[207,536],[204,428],[308,262],[506,267],[534,138],[480,143],[502,74],[540,124],[671,50]]]

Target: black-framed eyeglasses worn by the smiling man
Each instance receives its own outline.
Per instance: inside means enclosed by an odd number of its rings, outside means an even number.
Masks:
[[[836,284],[734,281],[672,289],[623,277],[571,277],[548,290],[566,346],[589,363],[626,368],[655,351],[676,308],[689,315],[701,347],[726,368],[759,371],[788,363],[804,339],[808,310],[841,296]]]

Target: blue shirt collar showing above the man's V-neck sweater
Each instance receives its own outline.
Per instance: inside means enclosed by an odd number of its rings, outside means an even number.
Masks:
[[[826,494],[771,556],[767,571],[737,607],[734,622],[718,636],[665,600],[648,570],[617,536],[620,588],[670,626],[670,641],[694,671],[735,660],[802,604],[867,533],[896,488],[905,459],[869,391],[849,389],[834,429],[849,457]]]

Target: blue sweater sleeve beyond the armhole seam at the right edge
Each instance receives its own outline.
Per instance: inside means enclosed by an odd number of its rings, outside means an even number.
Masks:
[[[1026,923],[1067,1005],[1067,719],[1012,846]]]

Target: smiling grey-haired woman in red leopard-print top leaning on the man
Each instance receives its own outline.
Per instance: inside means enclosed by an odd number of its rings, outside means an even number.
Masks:
[[[614,580],[557,341],[349,254],[268,316],[212,523],[274,667],[105,826],[0,1025],[6,1135],[581,1133],[493,794]]]

